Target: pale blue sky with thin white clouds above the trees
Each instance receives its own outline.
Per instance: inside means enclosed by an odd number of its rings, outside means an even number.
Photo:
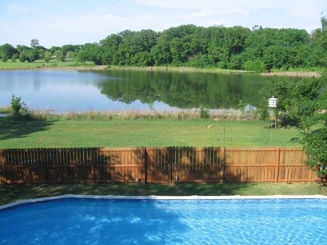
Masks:
[[[180,24],[320,28],[327,0],[0,0],[0,44],[98,42],[123,30],[162,31]]]

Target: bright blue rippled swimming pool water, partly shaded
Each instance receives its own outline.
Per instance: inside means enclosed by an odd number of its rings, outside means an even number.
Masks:
[[[62,199],[0,211],[0,244],[325,244],[327,200]]]

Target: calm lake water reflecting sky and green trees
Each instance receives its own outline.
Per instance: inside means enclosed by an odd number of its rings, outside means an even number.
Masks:
[[[258,105],[258,90],[270,78],[254,75],[179,73],[166,71],[0,71],[0,106],[11,95],[32,109],[174,110],[236,108],[239,99]]]

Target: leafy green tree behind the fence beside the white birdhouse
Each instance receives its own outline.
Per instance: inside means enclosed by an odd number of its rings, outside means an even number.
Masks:
[[[327,105],[327,95],[319,95],[322,80],[318,78],[304,78],[298,82],[287,78],[274,78],[259,91],[261,102],[259,112],[262,118],[268,116],[268,99],[275,96],[278,99],[277,108],[273,109],[277,119],[292,119],[299,122],[307,133],[321,117],[321,111]]]

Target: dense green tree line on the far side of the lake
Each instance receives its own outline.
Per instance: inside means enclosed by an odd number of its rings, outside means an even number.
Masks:
[[[255,72],[271,69],[325,67],[327,63],[327,20],[309,34],[306,30],[254,26],[197,27],[193,24],[153,30],[111,34],[99,43],[67,44],[47,49],[37,39],[31,46],[0,46],[3,61],[33,62],[75,59],[99,65],[190,66],[245,69]]]

